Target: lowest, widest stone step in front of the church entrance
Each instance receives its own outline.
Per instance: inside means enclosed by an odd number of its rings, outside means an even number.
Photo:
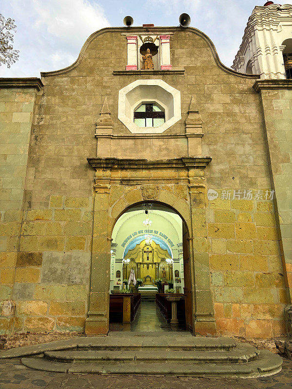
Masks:
[[[190,363],[177,361],[152,363],[149,365],[141,361],[117,363],[100,361],[96,363],[59,363],[45,358],[26,357],[21,362],[24,366],[41,371],[79,372],[98,374],[171,374],[193,377],[241,377],[252,378],[275,374],[281,371],[282,358],[269,351],[260,351],[258,360],[247,363]]]

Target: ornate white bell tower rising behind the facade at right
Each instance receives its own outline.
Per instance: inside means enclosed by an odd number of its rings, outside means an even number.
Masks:
[[[292,78],[292,4],[255,7],[232,68],[263,79]]]

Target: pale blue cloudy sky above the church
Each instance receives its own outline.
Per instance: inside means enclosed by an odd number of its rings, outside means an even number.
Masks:
[[[0,0],[0,13],[17,25],[14,49],[18,61],[0,77],[39,77],[71,65],[86,39],[103,27],[123,26],[130,15],[134,26],[177,26],[185,12],[191,27],[208,35],[224,65],[230,67],[244,28],[256,5],[265,0]]]

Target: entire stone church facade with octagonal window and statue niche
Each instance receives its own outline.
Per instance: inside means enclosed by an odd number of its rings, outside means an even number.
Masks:
[[[183,275],[195,335],[286,336],[284,77],[225,67],[195,28],[145,25],[95,32],[73,65],[41,79],[0,79],[1,334],[106,334],[110,290],[140,250],[140,278]],[[119,221],[145,204],[181,220],[171,230],[168,217],[169,233],[153,222],[159,260]]]

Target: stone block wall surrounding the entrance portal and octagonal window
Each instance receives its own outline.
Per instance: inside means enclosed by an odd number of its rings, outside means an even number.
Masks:
[[[127,64],[127,40],[125,35],[121,35],[124,29],[105,29],[91,35],[75,65],[63,71],[42,74],[44,88],[37,93],[35,115],[32,117],[30,113],[29,122],[24,125],[20,123],[23,115],[15,115],[20,108],[25,109],[26,100],[21,102],[21,107],[13,106],[17,112],[4,112],[4,121],[9,122],[7,128],[17,127],[19,132],[21,128],[26,128],[26,150],[30,131],[31,138],[29,152],[26,151],[29,158],[25,184],[25,165],[22,163],[26,164],[26,160],[19,162],[22,166],[19,189],[22,193],[24,189],[23,204],[21,197],[18,206],[5,208],[5,197],[1,215],[0,228],[6,234],[4,239],[1,238],[1,300],[9,300],[12,296],[16,301],[15,320],[2,318],[3,332],[12,329],[19,332],[84,329],[90,285],[91,203],[94,202],[92,190],[95,174],[86,158],[102,155],[157,159],[187,157],[188,153],[193,155],[192,150],[188,150],[190,144],[187,147],[187,139],[183,138],[185,120],[193,98],[193,104],[202,118],[202,156],[212,157],[205,170],[204,182],[208,188],[218,192],[217,199],[203,206],[196,204],[196,197],[190,200],[195,202],[195,208],[199,208],[194,228],[194,260],[198,261],[196,271],[201,268],[203,272],[210,265],[218,332],[248,337],[285,334],[283,308],[289,300],[285,294],[283,274],[286,269],[281,263],[274,201],[255,201],[254,197],[233,199],[232,191],[251,190],[255,195],[256,191],[265,193],[266,190],[273,190],[265,119],[268,121],[271,118],[271,125],[278,125],[280,108],[277,104],[287,104],[289,96],[285,94],[286,103],[280,103],[281,98],[267,103],[271,108],[263,114],[260,95],[253,89],[255,77],[236,74],[225,68],[219,62],[212,43],[201,32],[172,29],[171,63],[174,71],[183,68],[184,75],[171,71],[159,74],[140,72],[138,75],[133,72],[119,73],[125,70]],[[117,71],[115,75],[113,71]],[[137,79],[147,78],[161,78],[180,90],[182,120],[167,129],[163,137],[127,140],[125,137],[131,134],[117,118],[118,91]],[[18,94],[15,89],[9,89],[4,100],[7,100],[6,96],[16,99]],[[107,140],[96,141],[94,138],[95,122],[105,96],[113,121],[115,141],[112,148],[109,147],[110,141],[107,145]],[[27,99],[27,102],[32,103],[34,97],[30,98],[32,100]],[[9,101],[5,103],[7,109],[10,109],[9,104]],[[281,114],[286,115],[285,120],[288,120],[290,114],[285,107],[282,106]],[[32,107],[30,109],[32,112]],[[279,130],[278,135],[283,137],[283,131],[286,137],[289,131],[287,126]],[[14,133],[18,134],[18,131]],[[165,141],[165,136],[169,137],[169,141]],[[13,141],[15,139],[18,139],[18,135],[13,136]],[[4,140],[6,142],[6,134]],[[283,158],[287,157],[285,142],[281,143]],[[7,160],[11,159],[14,160],[13,157]],[[287,162],[286,159],[280,161],[284,176],[285,172],[290,172],[289,166],[285,165]],[[5,182],[10,185],[14,173],[7,174],[3,185]],[[116,179],[124,177],[121,171],[111,174],[113,178],[115,174]],[[139,173],[133,174],[139,177]],[[151,179],[155,179],[155,174],[153,172]],[[167,179],[171,178],[170,173],[168,176]],[[125,183],[123,185],[115,188],[121,196],[128,188]],[[281,187],[280,182],[278,186]],[[5,193],[12,195],[12,188],[6,187],[4,196]],[[15,189],[12,196],[20,194],[18,188]],[[221,199],[222,190],[231,191],[230,200]],[[17,195],[16,201],[20,201],[19,198]],[[10,198],[8,200],[11,201]],[[94,206],[98,215],[94,235],[96,264],[101,258],[100,253],[107,250],[109,238],[102,237],[106,243],[101,249],[98,246],[101,241],[98,231],[103,230],[102,223],[107,211],[105,204],[100,205],[98,201],[95,199]],[[165,203],[171,203],[171,195]],[[288,206],[288,203],[285,204]],[[100,209],[105,213],[99,214]],[[287,220],[290,219],[286,218],[283,224],[288,224]],[[286,236],[282,236],[283,242],[284,238]],[[105,255],[108,254],[105,252]],[[208,266],[204,261],[208,261]],[[106,262],[99,269],[104,269],[101,277],[108,277],[110,266],[108,271],[105,270]],[[102,310],[108,290],[103,287],[99,292],[97,268],[94,269],[94,277],[91,274],[91,279],[95,283],[91,285],[91,291],[97,291],[96,296],[102,296],[99,301]],[[199,289],[209,288],[205,280],[201,282],[200,273],[197,274]],[[203,308],[202,304],[201,311]],[[106,328],[105,319],[102,330]]]

